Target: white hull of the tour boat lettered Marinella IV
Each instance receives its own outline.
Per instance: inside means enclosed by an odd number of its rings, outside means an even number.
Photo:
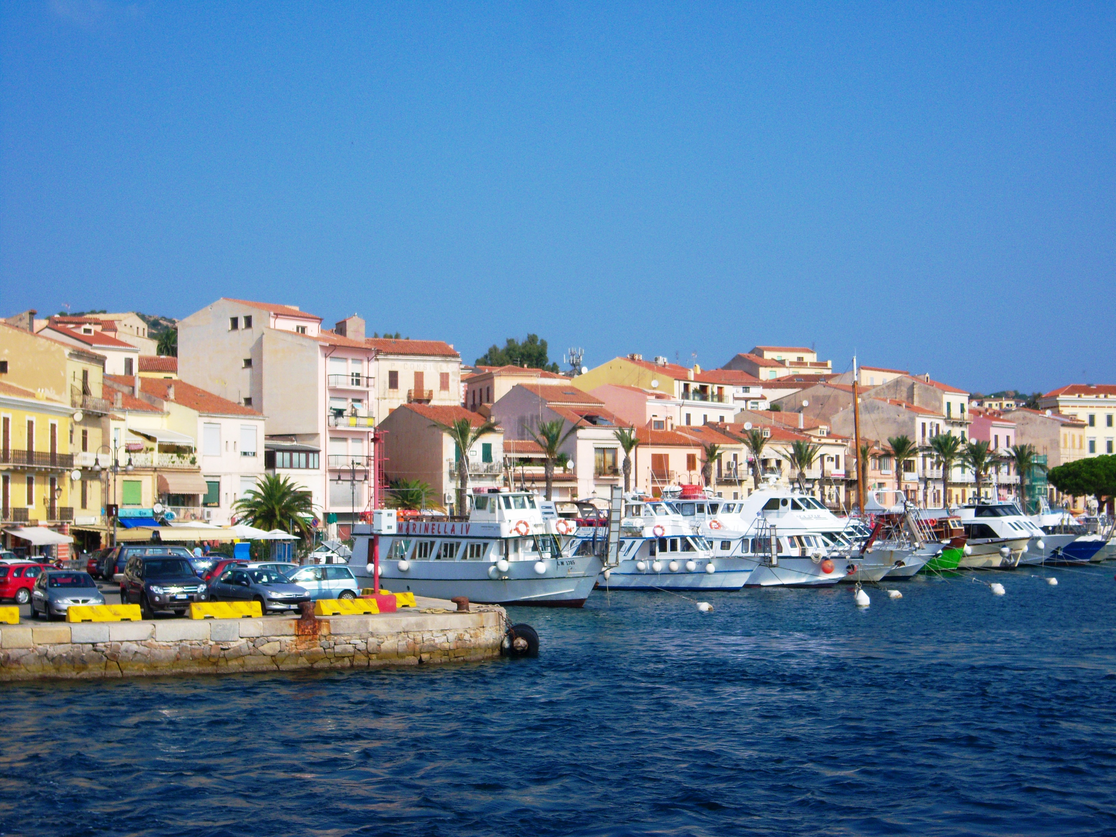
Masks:
[[[511,561],[506,573],[489,576],[496,565],[488,561],[411,561],[401,570],[397,561],[386,561],[379,568],[379,585],[392,593],[414,593],[416,596],[451,599],[464,596],[470,602],[490,605],[537,605],[580,607],[593,591],[600,571],[595,556],[561,558],[545,561],[547,573],[535,571],[535,561]],[[373,586],[373,573],[350,566],[357,580]]]

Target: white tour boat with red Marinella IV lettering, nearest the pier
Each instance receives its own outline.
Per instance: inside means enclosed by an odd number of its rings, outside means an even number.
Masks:
[[[417,518],[374,535],[354,527],[350,569],[373,588],[377,548],[381,586],[392,593],[499,605],[580,607],[602,569],[600,555],[574,555],[573,526],[533,493],[475,493],[468,519]],[[365,566],[367,565],[367,566]]]

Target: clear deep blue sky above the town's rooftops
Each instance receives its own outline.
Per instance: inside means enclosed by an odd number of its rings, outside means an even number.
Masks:
[[[0,6],[0,310],[1116,381],[1116,7]]]

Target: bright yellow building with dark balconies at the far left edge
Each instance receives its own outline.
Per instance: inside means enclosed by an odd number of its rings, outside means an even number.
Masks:
[[[0,521],[6,549],[28,555],[56,549],[57,557],[69,557],[73,415],[66,403],[0,381]],[[77,485],[81,490],[85,483]]]

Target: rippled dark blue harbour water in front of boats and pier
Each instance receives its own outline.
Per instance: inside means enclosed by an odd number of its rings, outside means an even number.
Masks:
[[[454,667],[0,686],[0,831],[1116,833],[1113,567],[514,608]]]

